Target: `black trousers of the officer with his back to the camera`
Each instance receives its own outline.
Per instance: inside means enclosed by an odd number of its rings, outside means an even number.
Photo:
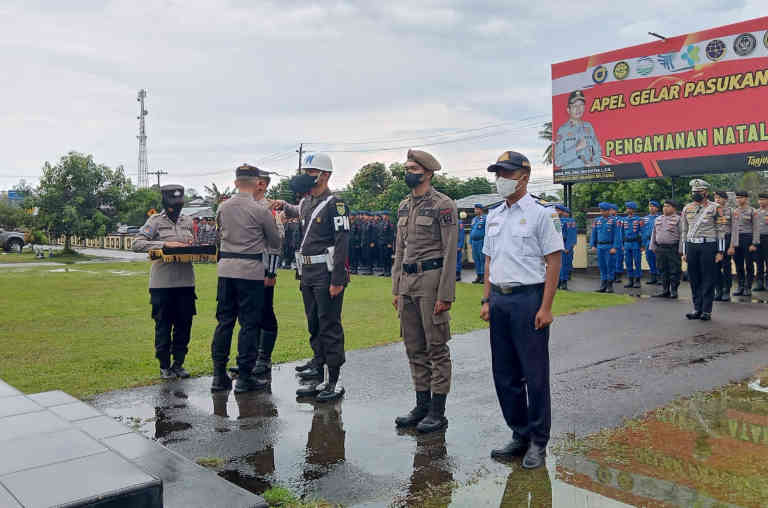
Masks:
[[[219,277],[216,292],[216,319],[211,357],[214,365],[229,362],[232,331],[240,323],[237,336],[237,366],[250,372],[256,363],[261,338],[261,316],[264,306],[264,281]]]

